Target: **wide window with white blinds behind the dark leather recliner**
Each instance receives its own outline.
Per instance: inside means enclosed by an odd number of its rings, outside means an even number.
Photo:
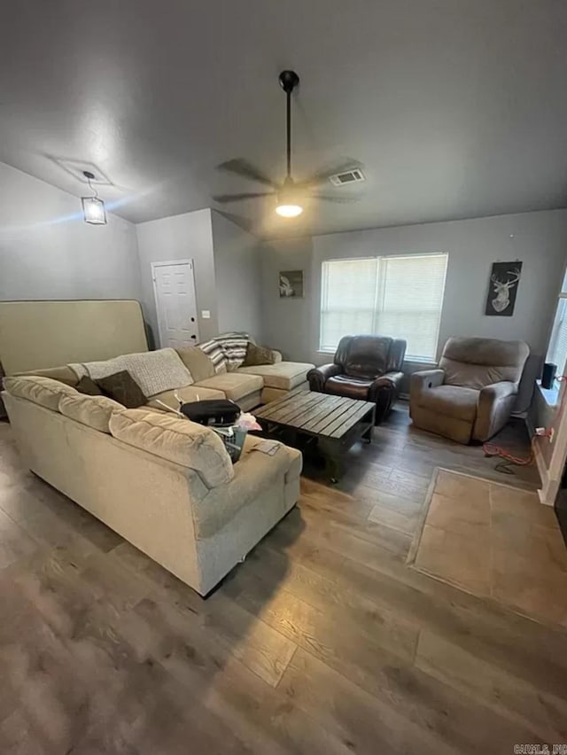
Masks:
[[[406,339],[406,359],[434,362],[447,254],[411,254],[322,263],[322,351],[355,333]]]

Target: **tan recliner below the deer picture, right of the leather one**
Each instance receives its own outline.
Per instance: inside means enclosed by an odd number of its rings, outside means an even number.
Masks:
[[[439,369],[411,376],[409,416],[458,443],[492,438],[508,422],[529,354],[523,341],[449,339]]]

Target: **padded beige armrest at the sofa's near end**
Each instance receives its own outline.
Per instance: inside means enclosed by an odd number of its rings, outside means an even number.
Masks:
[[[235,464],[230,485],[211,490],[193,506],[195,535],[204,540],[230,525],[243,506],[250,506],[266,488],[282,489],[289,480],[299,478],[302,457],[295,448],[279,443],[273,456],[254,451],[261,438],[247,435],[240,460]]]

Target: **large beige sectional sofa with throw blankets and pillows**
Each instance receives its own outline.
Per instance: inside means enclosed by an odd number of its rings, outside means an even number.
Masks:
[[[175,393],[183,401],[227,397],[252,409],[306,385],[312,365],[218,371],[198,347],[179,350],[179,364],[172,349],[161,351],[175,364],[170,378],[185,370],[190,382],[171,385],[160,374],[167,389],[139,409],[77,391],[76,365],[5,377],[3,398],[29,469],[206,595],[297,502],[301,455],[283,444],[267,455],[249,436],[233,465],[213,430],[158,401],[176,407]],[[140,379],[151,385],[164,355],[144,356]],[[115,358],[118,366],[124,358]]]

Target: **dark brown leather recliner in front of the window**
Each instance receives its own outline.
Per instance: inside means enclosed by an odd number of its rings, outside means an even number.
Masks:
[[[384,336],[344,336],[333,364],[307,372],[312,391],[374,401],[376,424],[392,409],[400,393],[406,341]]]

